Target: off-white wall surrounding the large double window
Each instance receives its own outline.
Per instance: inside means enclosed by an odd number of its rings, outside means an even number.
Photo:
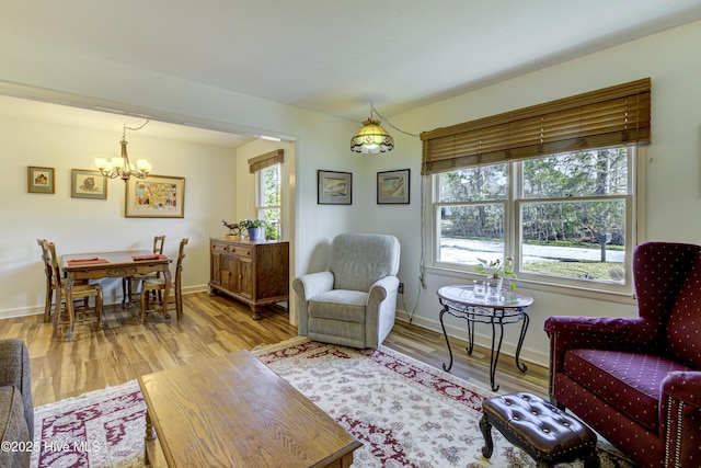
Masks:
[[[646,217],[646,239],[701,243],[701,60],[694,58],[698,44],[701,44],[701,22],[416,109],[391,119],[399,128],[418,134],[651,77],[653,130],[652,145],[646,148],[646,210],[643,214]],[[421,142],[397,133],[393,136],[397,148],[386,159],[378,159],[371,172],[410,167],[411,208],[375,206],[367,213],[367,222],[384,227],[400,238],[403,252],[400,281],[406,283],[405,308],[411,311],[416,307],[421,290],[414,320],[439,331],[437,289],[472,278],[429,270],[427,289],[418,288],[421,205],[417,174],[421,170]],[[536,303],[528,309],[531,323],[521,356],[542,364],[548,362],[548,340],[543,332],[547,317],[635,315],[633,304],[542,290],[529,293]],[[455,319],[449,323],[452,334],[466,338],[464,322]],[[489,332],[487,326],[478,328],[483,344],[489,343]],[[504,349],[513,351],[517,340],[516,327],[512,326],[506,340]]]

